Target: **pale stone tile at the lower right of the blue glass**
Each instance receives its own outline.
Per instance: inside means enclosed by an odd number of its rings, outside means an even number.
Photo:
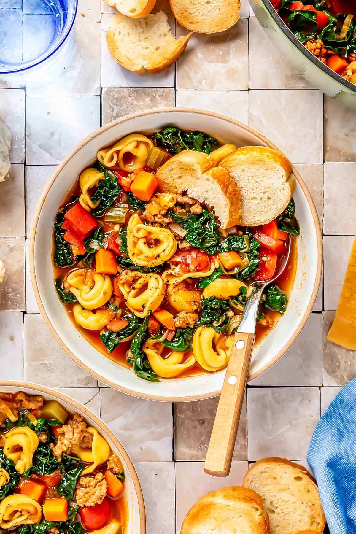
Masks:
[[[50,83],[28,83],[27,95],[100,95],[100,22],[86,21],[79,9],[72,59]]]

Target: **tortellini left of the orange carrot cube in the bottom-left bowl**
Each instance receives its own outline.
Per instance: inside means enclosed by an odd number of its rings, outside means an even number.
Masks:
[[[42,518],[41,505],[35,500],[15,493],[0,502],[0,527],[11,529],[19,525],[34,525]]]

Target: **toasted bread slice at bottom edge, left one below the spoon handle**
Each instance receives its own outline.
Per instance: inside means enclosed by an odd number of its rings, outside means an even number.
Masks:
[[[189,510],[180,534],[268,534],[262,498],[240,486],[210,491]]]

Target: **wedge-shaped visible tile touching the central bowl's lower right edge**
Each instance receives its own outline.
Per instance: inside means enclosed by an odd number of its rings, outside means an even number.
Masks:
[[[321,386],[321,313],[312,313],[291,348],[251,386]]]

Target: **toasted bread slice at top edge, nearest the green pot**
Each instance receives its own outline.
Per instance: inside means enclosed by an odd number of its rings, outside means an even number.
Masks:
[[[193,32],[224,32],[240,18],[240,0],[169,0],[169,4],[179,24]]]

